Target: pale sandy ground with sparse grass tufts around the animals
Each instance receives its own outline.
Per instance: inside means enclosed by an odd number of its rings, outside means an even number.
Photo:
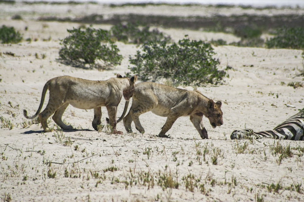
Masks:
[[[207,97],[223,103],[221,127],[213,129],[209,121],[203,119],[210,138],[207,140],[200,139],[188,117],[174,123],[167,133],[170,139],[158,138],[156,135],[165,118],[150,112],[140,117],[145,134],[126,134],[122,123],[117,129],[123,131],[123,135],[96,132],[91,125],[93,110],[71,106],[63,118],[76,130],[43,133],[40,124],[25,126],[28,120],[22,110],[27,109],[29,115],[36,112],[47,80],[62,75],[90,80],[106,80],[117,73],[124,75],[128,72],[128,57],[135,54],[138,47],[117,43],[124,60],[113,70],[65,66],[56,60],[61,47],[59,39],[68,35],[67,29],[79,24],[38,22],[36,16],[43,13],[41,9],[33,12],[32,17],[31,12],[26,12],[23,20],[11,20],[10,16],[20,13],[21,8],[5,6],[6,13],[2,12],[0,24],[14,26],[24,39],[30,37],[37,41],[0,45],[0,115],[14,124],[11,130],[0,129],[2,200],[304,201],[304,142],[230,140],[235,129],[272,129],[303,108],[303,88],[287,86],[289,82],[303,80],[296,76],[303,70],[301,50],[214,47],[221,61],[219,68],[229,65],[233,69],[229,70],[230,77],[224,85],[198,88]],[[67,7],[61,5],[53,12],[64,15]],[[31,11],[33,7],[28,5],[27,9]],[[83,12],[81,7],[79,12]],[[185,7],[182,12],[193,11]],[[229,15],[231,11],[227,12]],[[26,26],[28,31],[24,30]],[[109,29],[110,26],[94,27]],[[176,41],[185,34],[190,39],[238,41],[237,37],[223,33],[161,31]],[[118,116],[123,106],[124,100],[119,104]],[[102,113],[105,124],[106,108],[102,108]],[[52,119],[49,125],[54,125]],[[71,145],[64,146],[65,142]],[[290,146],[293,155],[280,161],[281,154],[274,151],[278,145]],[[245,148],[244,152],[240,152],[241,148]],[[214,159],[217,163],[212,163]],[[54,173],[56,176],[52,178]]]

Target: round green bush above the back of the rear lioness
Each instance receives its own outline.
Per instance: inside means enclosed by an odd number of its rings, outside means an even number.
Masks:
[[[89,27],[68,29],[67,32],[70,36],[60,43],[63,45],[59,50],[61,60],[89,64],[90,67],[94,67],[96,60],[102,60],[105,67],[112,67],[123,59],[107,30]]]

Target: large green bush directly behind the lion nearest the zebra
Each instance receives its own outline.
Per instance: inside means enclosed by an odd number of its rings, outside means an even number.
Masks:
[[[130,63],[135,66],[129,68],[143,81],[170,78],[184,85],[218,84],[228,75],[226,70],[217,69],[219,59],[213,58],[214,54],[210,43],[201,40],[185,38],[171,45],[165,41],[149,42],[142,45],[135,56],[130,56]]]

